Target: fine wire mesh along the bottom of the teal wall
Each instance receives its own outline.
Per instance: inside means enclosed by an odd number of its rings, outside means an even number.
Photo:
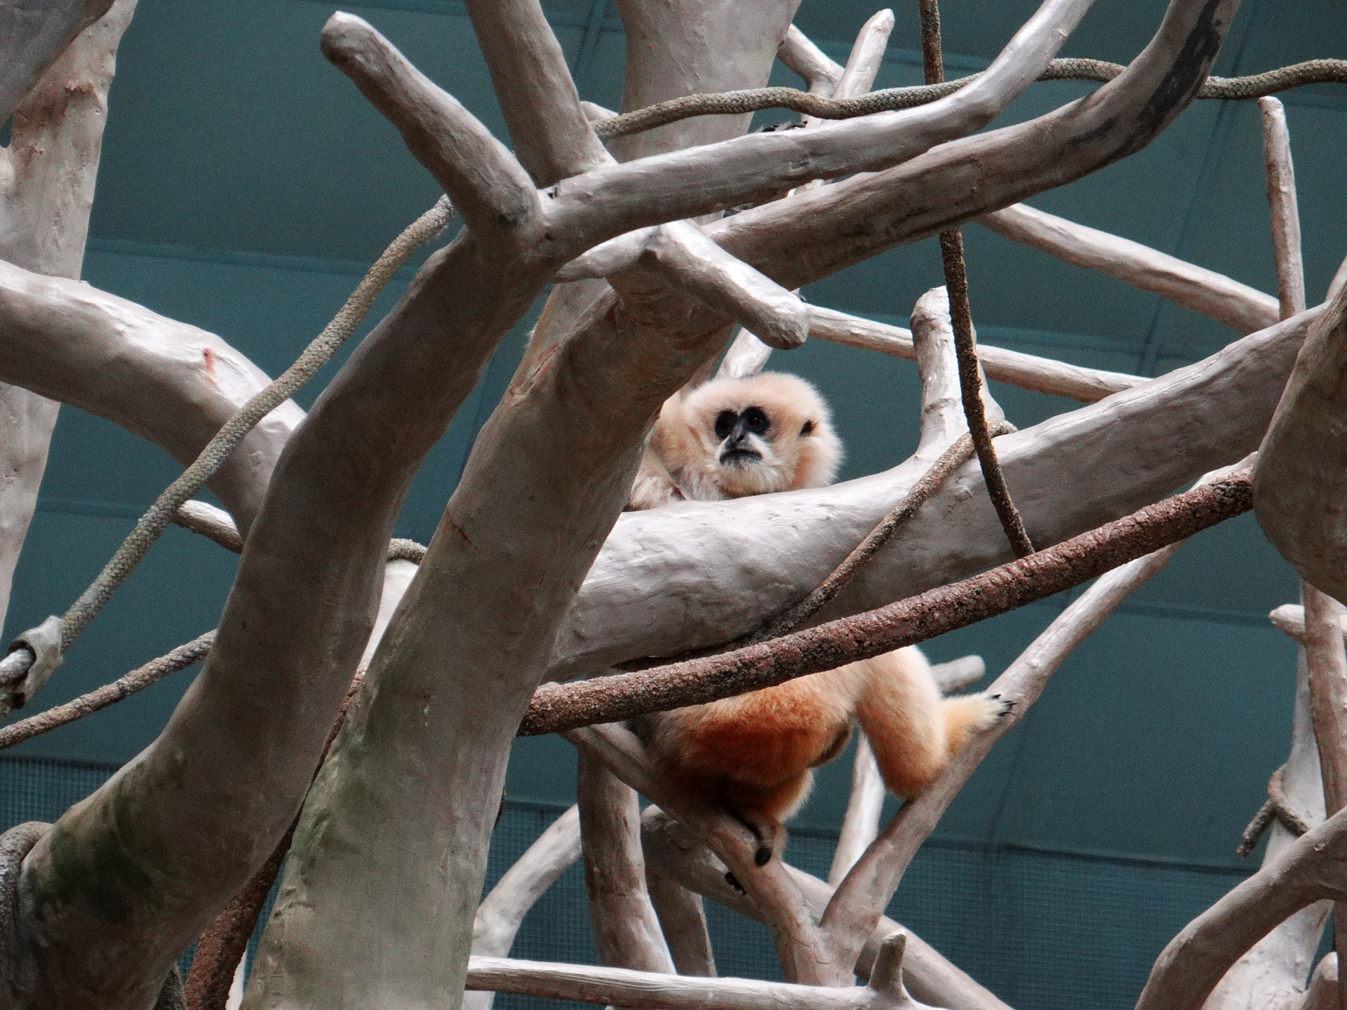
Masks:
[[[53,821],[98,788],[113,765],[0,758],[0,813],[8,828]],[[492,839],[486,887],[562,808],[508,801]],[[787,858],[827,875],[835,835],[797,830]],[[1243,871],[933,840],[923,847],[889,914],[1018,1010],[1123,1010],[1179,929],[1239,882]],[[271,901],[263,910],[265,924]],[[721,975],[780,979],[766,929],[709,904]],[[257,933],[261,932],[261,924]],[[257,935],[249,945],[249,956]],[[597,964],[577,863],[525,917],[515,957]],[[190,951],[183,956],[183,970]],[[501,994],[500,1010],[556,1001]],[[574,1005],[581,1006],[581,1005]]]

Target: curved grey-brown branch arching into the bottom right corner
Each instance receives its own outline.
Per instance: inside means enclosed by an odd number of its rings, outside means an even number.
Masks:
[[[1137,1010],[1197,1010],[1239,956],[1288,916],[1347,900],[1347,811],[1288,846],[1282,858],[1183,928],[1160,953]]]

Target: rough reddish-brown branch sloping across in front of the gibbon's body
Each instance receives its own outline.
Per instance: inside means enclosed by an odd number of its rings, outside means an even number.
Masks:
[[[544,684],[533,694],[519,733],[533,737],[617,722],[836,669],[1045,599],[1251,506],[1249,473],[1241,471],[1029,558],[877,610],[718,656],[579,684]]]

